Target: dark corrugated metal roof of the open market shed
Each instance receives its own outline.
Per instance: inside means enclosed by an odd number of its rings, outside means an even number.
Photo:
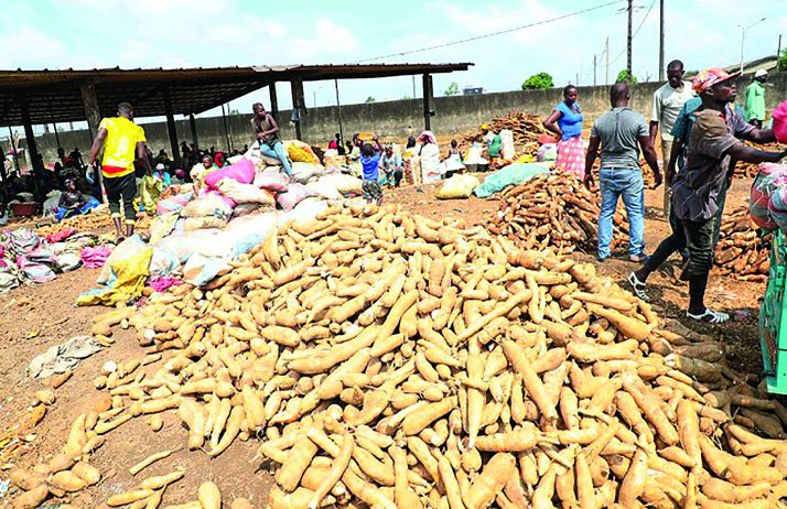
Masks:
[[[252,67],[40,69],[0,71],[0,126],[22,123],[26,100],[33,123],[85,119],[80,86],[93,84],[99,110],[111,115],[120,101],[138,117],[164,115],[169,88],[175,115],[200,113],[276,82],[355,79],[466,71],[461,64],[274,65]]]

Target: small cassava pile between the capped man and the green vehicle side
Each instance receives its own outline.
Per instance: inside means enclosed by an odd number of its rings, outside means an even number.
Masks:
[[[772,238],[772,234],[763,234],[752,221],[745,205],[724,214],[715,252],[719,273],[742,281],[766,282]]]

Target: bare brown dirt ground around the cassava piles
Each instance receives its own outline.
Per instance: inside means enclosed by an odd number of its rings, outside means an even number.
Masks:
[[[735,181],[727,207],[745,199],[750,185],[747,181]],[[391,189],[386,192],[385,199],[433,218],[461,217],[471,225],[483,223],[484,217],[497,207],[494,198],[438,201],[433,197],[434,191],[433,185],[424,186],[422,192],[413,187]],[[661,189],[646,193],[648,251],[653,251],[659,240],[668,235],[669,227],[659,215],[660,204]],[[625,284],[625,277],[635,264],[628,261],[625,252],[616,254],[602,263],[599,271]],[[576,256],[585,260],[595,259],[592,253]],[[675,262],[670,261],[672,264]],[[25,371],[28,364],[53,345],[75,335],[88,334],[90,318],[103,310],[75,307],[73,303],[79,292],[93,288],[97,273],[98,270],[80,269],[50,283],[22,286],[0,295],[0,430],[4,433],[0,434],[0,480],[6,478],[3,470],[13,464],[32,466],[58,452],[67,436],[69,423],[79,413],[107,408],[109,401],[106,392],[99,392],[93,387],[93,379],[99,375],[104,362],[139,358],[144,351],[130,331],[116,334],[116,343],[110,348],[84,360],[74,376],[55,391],[57,401],[48,408],[43,421],[31,430],[19,430],[19,423],[25,420],[33,401],[33,393],[45,387],[44,381],[30,378]],[[708,304],[732,312],[735,321],[727,325],[697,326],[682,318],[682,310],[687,305],[686,284],[669,273],[669,270],[664,270],[649,280],[659,313],[665,317],[680,318],[690,327],[720,338],[729,346],[729,361],[735,370],[758,375],[762,358],[757,339],[757,314],[764,285],[730,278],[712,278]],[[158,366],[153,364],[147,369],[152,372]],[[186,432],[175,414],[164,414],[164,422],[163,430],[158,433],[143,419],[134,419],[109,433],[106,444],[91,458],[91,463],[104,474],[104,480],[75,497],[75,502],[83,508],[99,507],[110,495],[132,489],[147,476],[183,468],[186,472],[184,480],[166,490],[164,505],[194,500],[197,486],[205,480],[214,480],[224,494],[225,503],[242,496],[249,498],[255,507],[265,507],[272,478],[267,472],[267,465],[252,461],[257,441],[236,441],[226,453],[211,459],[204,452],[184,451]],[[162,450],[177,452],[144,469],[136,478],[128,473],[131,465]],[[9,505],[9,495],[0,495],[0,507]]]

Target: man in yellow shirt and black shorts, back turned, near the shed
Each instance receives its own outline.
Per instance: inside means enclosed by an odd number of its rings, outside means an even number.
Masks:
[[[109,210],[118,238],[122,237],[120,229],[120,202],[123,204],[126,217],[126,236],[133,235],[137,214],[133,208],[133,198],[137,196],[137,181],[134,180],[133,163],[139,159],[148,175],[153,173],[150,161],[144,151],[144,130],[133,123],[133,108],[128,102],[118,105],[118,116],[105,118],[98,126],[96,139],[93,140],[88,172],[104,148],[101,159],[101,176],[104,188],[109,199]]]

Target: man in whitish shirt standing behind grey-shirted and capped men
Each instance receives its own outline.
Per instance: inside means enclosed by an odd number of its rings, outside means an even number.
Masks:
[[[661,165],[669,162],[672,152],[672,126],[683,104],[694,97],[691,85],[683,82],[683,63],[672,61],[667,65],[667,83],[654,93],[650,113],[650,143],[656,147],[656,134],[661,130]],[[664,186],[664,217],[669,217],[670,188]]]

